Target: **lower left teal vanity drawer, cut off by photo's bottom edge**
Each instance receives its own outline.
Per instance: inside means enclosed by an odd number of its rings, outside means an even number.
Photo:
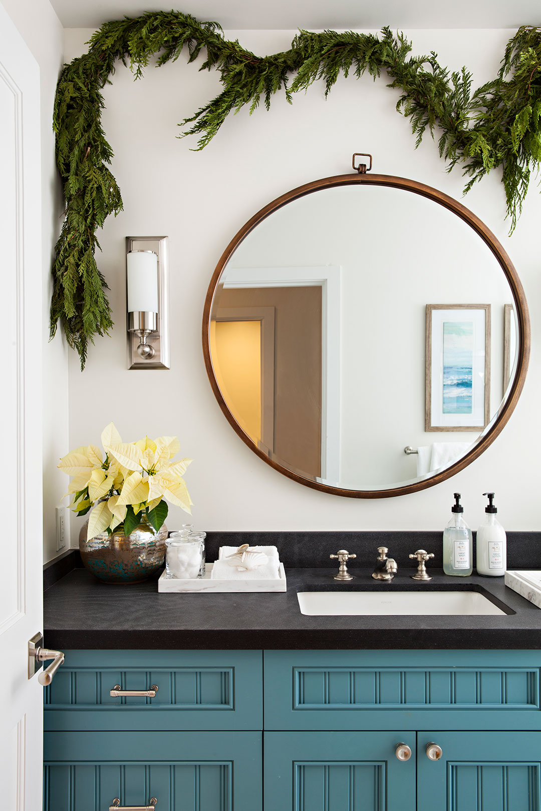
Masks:
[[[261,732],[45,732],[44,811],[261,811]]]

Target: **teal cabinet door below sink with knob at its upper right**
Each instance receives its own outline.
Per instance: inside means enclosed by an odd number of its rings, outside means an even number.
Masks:
[[[409,761],[397,759],[398,743],[410,746]],[[414,733],[265,732],[263,806],[264,811],[414,811]]]

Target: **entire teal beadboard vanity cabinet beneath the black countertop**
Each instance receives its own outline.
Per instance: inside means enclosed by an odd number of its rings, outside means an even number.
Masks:
[[[541,811],[540,668],[533,650],[70,650],[45,693],[44,808]]]

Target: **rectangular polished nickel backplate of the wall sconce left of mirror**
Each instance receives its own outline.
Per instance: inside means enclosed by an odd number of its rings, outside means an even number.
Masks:
[[[157,324],[133,324],[133,313],[127,315],[127,367],[128,369],[169,369],[169,238],[168,237],[127,237],[126,254],[130,251],[154,251],[157,254],[158,268],[158,314]],[[138,315],[152,315],[138,314]],[[131,319],[129,318],[131,316]],[[131,332],[134,326],[151,326],[152,332],[146,340],[154,350],[151,357],[143,358],[137,351],[140,336]]]

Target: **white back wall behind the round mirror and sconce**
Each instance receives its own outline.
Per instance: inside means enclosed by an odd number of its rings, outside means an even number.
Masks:
[[[302,24],[302,20],[299,21]],[[66,59],[84,51],[92,32],[66,32]],[[414,52],[435,49],[453,70],[466,64],[475,84],[496,75],[510,31],[415,31]],[[294,32],[225,32],[259,54],[286,49]],[[525,213],[512,238],[505,200],[495,173],[470,193],[466,204],[508,249],[526,289],[533,315],[530,375],[508,426],[479,460],[453,479],[410,496],[354,500],[313,491],[277,474],[234,434],[213,397],[200,345],[208,281],[230,238],[251,215],[283,192],[350,171],[353,152],[372,152],[374,170],[428,183],[461,199],[460,169],[446,174],[428,136],[414,151],[410,123],[395,111],[397,92],[369,77],[341,79],[328,101],[323,88],[299,94],[294,105],[273,99],[249,117],[231,116],[203,152],[195,139],[177,140],[178,122],[220,90],[217,74],[178,62],[149,68],[133,81],[118,66],[105,88],[103,122],[114,148],[112,169],[124,211],[99,234],[98,262],[111,288],[116,328],[98,339],[87,368],[70,358],[70,448],[96,442],[113,419],[122,438],[147,432],[178,434],[182,454],[194,458],[187,484],[195,524],[206,530],[436,530],[448,521],[455,490],[463,494],[466,519],[477,526],[483,491],[494,490],[502,523],[513,530],[539,529],[539,344],[541,258],[537,244],[541,200],[532,184]],[[171,369],[127,371],[124,238],[169,234],[171,272]],[[408,442],[408,438],[404,444]],[[172,511],[169,526],[184,513]],[[76,521],[72,541],[75,542]]]

